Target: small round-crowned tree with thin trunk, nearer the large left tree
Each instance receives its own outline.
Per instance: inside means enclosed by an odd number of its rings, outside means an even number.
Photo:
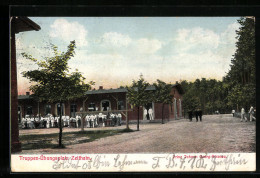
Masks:
[[[149,83],[147,83],[143,76],[140,75],[140,79],[138,81],[133,80],[132,85],[127,87],[127,100],[131,105],[137,107],[138,109],[137,130],[139,130],[140,107],[151,101],[151,92],[146,90],[148,86]]]

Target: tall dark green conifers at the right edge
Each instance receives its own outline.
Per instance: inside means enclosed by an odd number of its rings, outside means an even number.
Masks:
[[[237,33],[236,52],[231,60],[231,69],[224,78],[228,86],[228,104],[249,109],[255,104],[255,22],[240,18]]]

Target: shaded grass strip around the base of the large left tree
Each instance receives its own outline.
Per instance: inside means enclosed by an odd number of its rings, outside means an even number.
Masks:
[[[92,142],[100,138],[133,132],[133,130],[95,130],[95,131],[77,131],[62,133],[62,144],[66,147],[80,143]],[[52,134],[34,134],[21,135],[20,142],[22,143],[22,150],[34,150],[44,148],[57,148],[59,133]]]

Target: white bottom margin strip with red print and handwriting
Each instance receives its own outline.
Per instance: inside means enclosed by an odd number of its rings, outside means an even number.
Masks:
[[[11,155],[19,172],[255,171],[255,162],[255,153]]]

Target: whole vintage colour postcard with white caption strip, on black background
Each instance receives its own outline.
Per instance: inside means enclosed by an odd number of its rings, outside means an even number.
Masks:
[[[10,17],[12,172],[256,170],[255,18]]]

